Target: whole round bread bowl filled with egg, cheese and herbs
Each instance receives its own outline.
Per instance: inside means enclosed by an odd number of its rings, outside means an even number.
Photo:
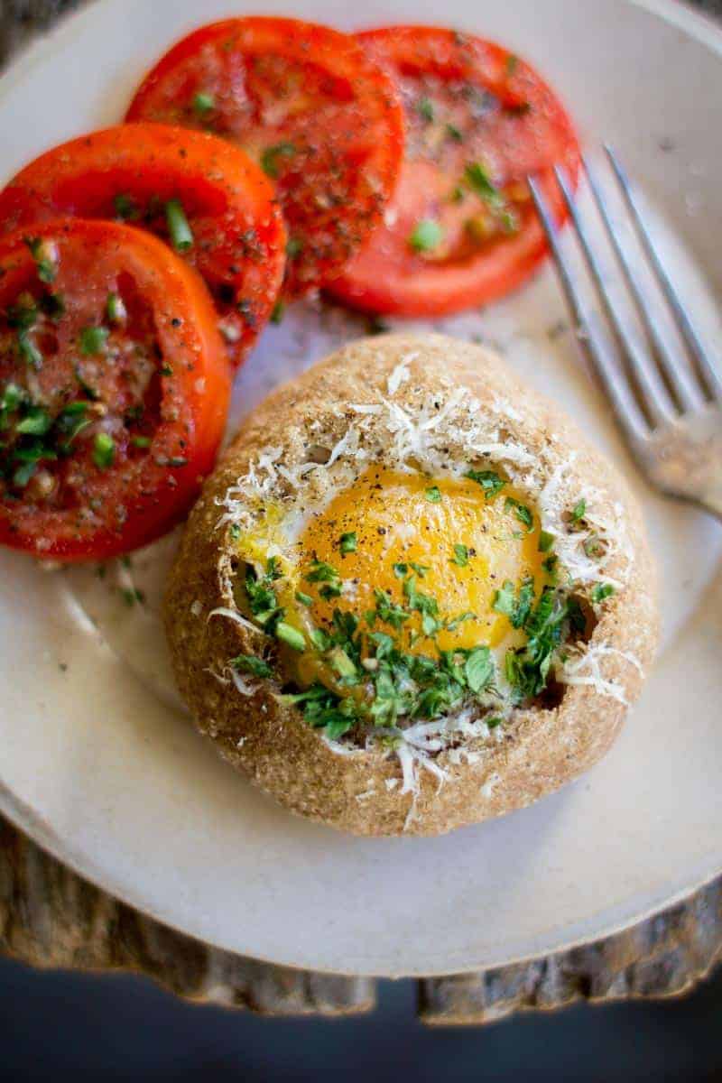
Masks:
[[[275,391],[169,578],[201,733],[291,811],[436,835],[608,749],[657,639],[617,471],[478,345],[353,342]]]

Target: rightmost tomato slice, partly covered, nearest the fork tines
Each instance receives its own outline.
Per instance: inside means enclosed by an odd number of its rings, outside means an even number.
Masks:
[[[565,217],[550,167],[566,166],[576,182],[579,148],[563,106],[528,64],[480,38],[402,26],[359,40],[397,84],[406,157],[384,226],[330,292],[404,316],[502,297],[547,252],[528,173]]]

